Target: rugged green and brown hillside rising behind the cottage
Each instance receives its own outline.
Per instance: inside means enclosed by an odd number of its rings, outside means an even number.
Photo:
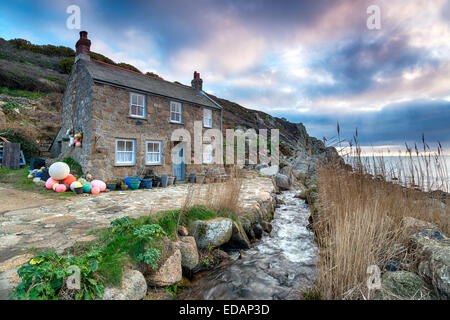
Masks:
[[[45,154],[58,132],[62,93],[74,56],[75,52],[67,47],[0,38],[0,135],[12,140],[28,140],[27,158]],[[99,53],[91,52],[91,57],[140,72],[132,65],[116,63]],[[322,141],[307,134],[302,123],[247,109],[213,95],[210,97],[224,107],[224,129],[279,129],[284,159],[295,157],[299,152],[320,154],[327,151]]]

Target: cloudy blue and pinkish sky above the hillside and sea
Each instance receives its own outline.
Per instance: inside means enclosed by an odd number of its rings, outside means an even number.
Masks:
[[[2,1],[0,37],[74,47],[66,9],[81,8],[92,50],[322,138],[450,149],[450,1]],[[381,29],[369,30],[377,5]]]

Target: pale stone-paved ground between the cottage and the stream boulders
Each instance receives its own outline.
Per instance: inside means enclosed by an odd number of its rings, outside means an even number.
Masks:
[[[76,196],[61,202],[10,211],[0,210],[0,299],[20,279],[17,268],[32,255],[34,248],[53,248],[57,252],[75,242],[94,240],[89,231],[105,228],[120,217],[138,217],[161,210],[180,208],[185,201],[188,184],[150,190],[113,191],[98,196]],[[194,203],[207,197],[208,186],[196,192]],[[0,203],[7,194],[2,186]],[[273,196],[272,180],[263,177],[244,179],[240,203],[243,210],[252,210]],[[2,212],[3,211],[3,212]]]

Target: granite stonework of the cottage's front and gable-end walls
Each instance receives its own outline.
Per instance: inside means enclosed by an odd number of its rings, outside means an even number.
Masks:
[[[172,133],[176,129],[186,129],[191,136],[191,156],[194,160],[194,122],[200,122],[198,132],[210,128],[203,127],[203,110],[212,110],[212,129],[221,130],[220,108],[212,108],[194,103],[188,103],[148,92],[125,89],[120,86],[105,84],[93,79],[87,65],[92,62],[79,60],[74,64],[67,82],[63,98],[63,124],[52,148],[52,154],[60,159],[71,157],[81,164],[83,173],[92,174],[101,180],[122,179],[129,176],[139,176],[148,169],[158,174],[174,174],[172,149],[179,141],[171,141]],[[111,68],[113,68],[111,66]],[[134,77],[147,76],[136,74]],[[163,81],[163,80],[161,80]],[[182,86],[166,84],[166,86]],[[190,88],[182,86],[183,89]],[[192,88],[190,90],[193,90]],[[130,92],[145,96],[145,118],[130,116]],[[182,103],[182,123],[170,121],[170,102]],[[81,147],[69,146],[69,142],[62,141],[68,137],[67,131],[83,133]],[[135,165],[115,164],[115,143],[117,138],[133,139],[136,145]],[[66,139],[65,139],[66,140]],[[145,163],[146,141],[162,142],[162,159],[160,165]],[[178,137],[178,140],[180,138]],[[186,142],[186,141],[184,141]],[[208,143],[204,139],[205,143]],[[187,149],[185,149],[187,150]],[[200,146],[201,152],[201,146]],[[211,168],[222,168],[216,164],[185,165],[185,177],[192,172],[201,173]]]

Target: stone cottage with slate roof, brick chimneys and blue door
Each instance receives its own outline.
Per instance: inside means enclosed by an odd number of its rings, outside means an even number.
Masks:
[[[53,155],[71,157],[84,173],[103,180],[148,169],[184,180],[191,172],[219,166],[212,164],[212,144],[202,145],[201,164],[173,161],[175,147],[180,159],[188,158],[186,142],[171,141],[175,129],[184,128],[193,137],[194,121],[199,121],[203,132],[222,132],[222,107],[202,91],[199,73],[194,72],[192,86],[165,81],[91,59],[90,45],[87,32],[81,31]],[[77,133],[83,134],[78,147],[68,141]]]

